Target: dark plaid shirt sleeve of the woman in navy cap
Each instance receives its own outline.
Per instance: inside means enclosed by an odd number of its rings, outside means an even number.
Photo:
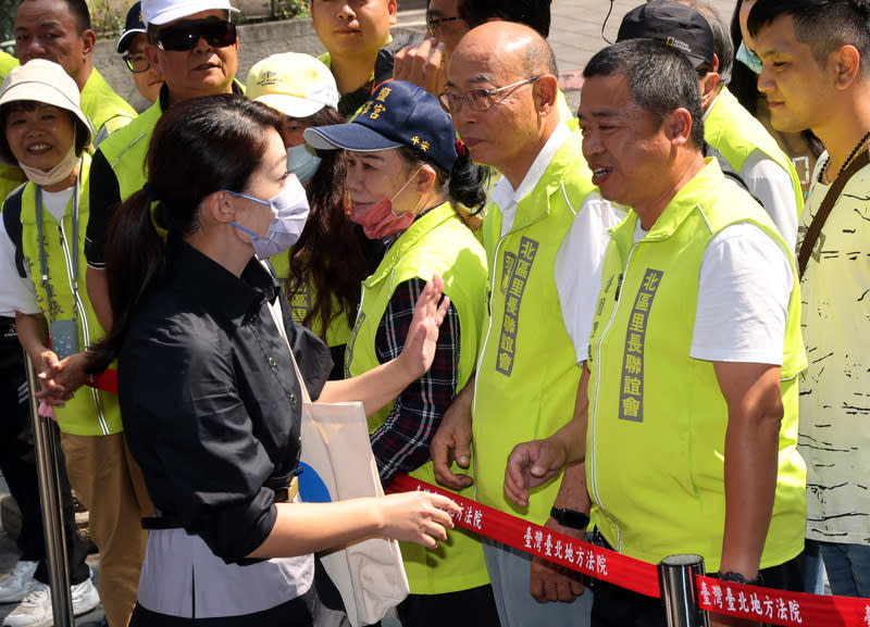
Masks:
[[[414,278],[393,292],[375,336],[380,363],[399,356],[414,316],[414,304],[425,287]],[[430,460],[428,446],[442,416],[456,397],[459,369],[459,314],[450,303],[440,326],[435,361],[430,371],[405,388],[386,422],[371,435],[381,481],[388,486],[396,475]]]

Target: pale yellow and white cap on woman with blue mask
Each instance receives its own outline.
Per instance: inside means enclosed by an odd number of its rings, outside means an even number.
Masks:
[[[330,68],[299,52],[272,54],[254,64],[245,95],[290,117],[308,117],[324,106],[338,106],[338,88]]]

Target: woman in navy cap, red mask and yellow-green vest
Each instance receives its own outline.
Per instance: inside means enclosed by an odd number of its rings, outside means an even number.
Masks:
[[[483,206],[484,171],[456,142],[435,97],[401,80],[378,86],[351,123],[308,128],[304,136],[319,150],[347,151],[348,217],[386,247],[362,284],[345,374],[365,373],[399,354],[426,278],[444,277],[450,306],[432,368],[369,418],[385,486],[401,473],[434,482],[430,441],[474,373],[486,317],[485,253],[455,209]],[[401,551],[411,586],[398,607],[402,624],[498,625],[475,536],[453,529],[437,551],[407,544]]]

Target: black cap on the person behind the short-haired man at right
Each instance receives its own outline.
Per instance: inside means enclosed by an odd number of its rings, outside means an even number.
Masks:
[[[650,0],[632,9],[622,18],[617,41],[658,39],[688,57],[692,65],[713,66],[713,30],[709,22],[674,0]]]

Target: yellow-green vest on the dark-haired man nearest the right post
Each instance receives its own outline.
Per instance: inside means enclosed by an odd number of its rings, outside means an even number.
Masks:
[[[689,358],[701,259],[718,233],[739,223],[759,226],[792,255],[762,208],[709,161],[643,240],[634,242],[634,212],[611,231],[587,362],[586,480],[593,522],[618,551],[652,563],[696,553],[707,570],[717,570],[725,519],[728,404],[713,363]],[[791,560],[804,547],[797,375],[807,360],[799,311],[795,283],[781,374],[776,496],[762,568]]]

